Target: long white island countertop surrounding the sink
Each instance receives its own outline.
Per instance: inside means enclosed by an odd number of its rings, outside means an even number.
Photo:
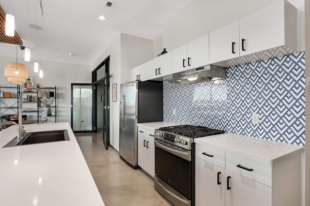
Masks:
[[[104,206],[68,122],[29,124],[26,130],[68,131],[70,140],[5,147],[17,126],[0,132],[0,205]]]

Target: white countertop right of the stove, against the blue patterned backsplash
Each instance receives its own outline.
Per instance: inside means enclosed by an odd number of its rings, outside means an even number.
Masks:
[[[303,146],[233,133],[196,138],[194,142],[270,165],[293,157],[305,150]]]

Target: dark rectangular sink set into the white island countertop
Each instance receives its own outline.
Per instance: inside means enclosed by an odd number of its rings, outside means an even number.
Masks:
[[[19,140],[17,136],[3,147],[15,147],[22,145],[50,143],[59,141],[68,141],[69,135],[67,130],[45,131],[45,132],[29,132],[26,136]]]

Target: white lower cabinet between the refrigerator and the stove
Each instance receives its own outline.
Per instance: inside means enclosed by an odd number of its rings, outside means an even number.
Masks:
[[[154,130],[138,127],[138,165],[149,175],[155,175]]]

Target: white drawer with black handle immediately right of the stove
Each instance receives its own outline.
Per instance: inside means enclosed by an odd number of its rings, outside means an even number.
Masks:
[[[222,150],[196,144],[195,156],[205,162],[225,168],[225,152]]]

